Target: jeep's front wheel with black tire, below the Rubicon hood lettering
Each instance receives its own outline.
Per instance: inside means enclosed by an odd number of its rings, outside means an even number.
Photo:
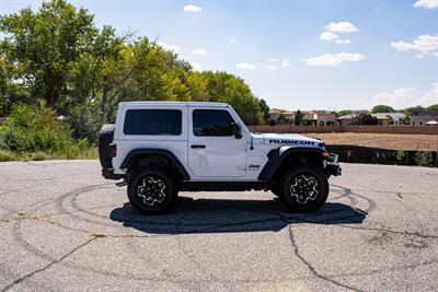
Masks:
[[[328,180],[325,173],[311,164],[288,170],[280,178],[281,201],[293,212],[310,213],[327,200]]]

